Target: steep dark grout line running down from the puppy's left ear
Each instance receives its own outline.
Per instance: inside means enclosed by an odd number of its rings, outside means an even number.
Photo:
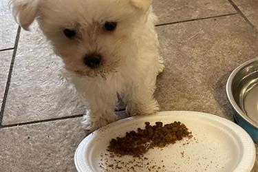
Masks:
[[[10,64],[8,79],[7,79],[7,82],[6,82],[6,89],[5,89],[5,92],[3,94],[3,102],[2,102],[1,111],[0,111],[0,128],[1,128],[2,120],[3,120],[3,111],[4,111],[4,108],[6,106],[6,98],[7,98],[8,90],[9,90],[9,87],[10,87],[10,80],[11,80],[11,77],[12,77],[12,67],[14,66],[14,59],[15,59],[16,52],[17,52],[18,42],[19,42],[19,38],[20,38],[20,32],[21,32],[21,27],[19,26],[19,28],[17,30],[17,36],[16,36],[16,39],[15,39],[15,43],[14,43],[14,51],[12,52],[12,61],[11,61],[11,64]]]

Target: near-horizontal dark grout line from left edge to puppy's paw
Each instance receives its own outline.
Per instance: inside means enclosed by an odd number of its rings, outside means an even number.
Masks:
[[[23,126],[23,125],[33,125],[33,124],[39,124],[39,123],[43,123],[43,122],[67,120],[67,119],[80,118],[80,117],[83,117],[83,114],[76,115],[76,116],[64,116],[64,117],[61,117],[61,118],[52,118],[52,119],[47,119],[47,120],[36,120],[36,121],[32,121],[32,122],[22,122],[22,123],[13,124],[13,125],[1,125],[0,129],[9,128],[9,127],[18,127],[18,126]]]

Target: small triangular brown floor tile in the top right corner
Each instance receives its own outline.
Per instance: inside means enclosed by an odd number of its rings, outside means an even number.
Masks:
[[[258,0],[233,0],[233,2],[258,30]]]

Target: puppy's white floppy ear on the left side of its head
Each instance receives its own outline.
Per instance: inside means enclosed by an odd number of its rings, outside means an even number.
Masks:
[[[14,19],[24,30],[28,30],[30,24],[39,14],[40,0],[10,0],[9,6],[12,9]]]

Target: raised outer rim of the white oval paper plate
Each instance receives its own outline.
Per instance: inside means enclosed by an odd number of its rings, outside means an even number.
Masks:
[[[209,114],[209,113],[205,113],[205,112],[200,112],[200,111],[158,111],[155,114],[149,115],[149,116],[132,116],[129,118],[124,118],[121,120],[117,120],[116,122],[112,122],[109,125],[106,125],[105,127],[101,127],[100,129],[89,133],[88,136],[86,136],[81,142],[80,144],[78,144],[78,147],[76,148],[76,151],[74,153],[74,164],[76,166],[76,170],[77,171],[91,171],[89,169],[89,167],[85,166],[85,164],[83,164],[83,162],[81,162],[81,160],[79,160],[78,155],[79,155],[79,151],[83,151],[83,148],[85,148],[85,143],[87,143],[87,140],[92,139],[94,136],[96,136],[96,133],[98,132],[103,132],[105,131],[106,128],[110,128],[116,125],[119,125],[121,123],[127,122],[129,120],[137,120],[138,118],[148,118],[151,116],[158,116],[158,115],[166,115],[166,114],[186,114],[186,115],[197,115],[197,116],[202,116],[204,118],[210,118],[212,120],[217,120],[218,122],[221,122],[223,125],[229,124],[231,129],[234,129],[233,131],[235,131],[235,129],[237,129],[239,132],[237,132],[237,136],[239,137],[239,139],[241,140],[241,144],[242,147],[244,148],[243,151],[243,155],[241,157],[240,163],[237,164],[236,168],[234,169],[234,171],[246,171],[248,172],[248,170],[251,170],[252,167],[255,164],[255,159],[256,159],[256,153],[255,153],[255,143],[252,141],[252,138],[250,137],[250,135],[244,130],[242,129],[239,125],[235,124],[235,122],[230,121],[226,118],[222,118],[220,116],[216,116],[213,114]],[[226,123],[226,124],[225,124]]]

